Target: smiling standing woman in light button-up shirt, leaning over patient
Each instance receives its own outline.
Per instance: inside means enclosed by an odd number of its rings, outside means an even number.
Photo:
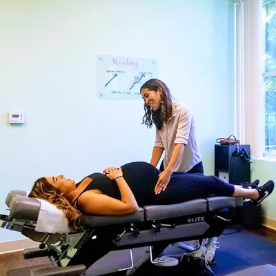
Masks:
[[[155,193],[166,190],[173,172],[204,173],[195,119],[189,106],[171,98],[163,81],[149,79],[140,88],[145,104],[142,124],[156,126],[155,145],[150,164],[157,166],[163,151],[164,170],[160,173]],[[161,169],[162,170],[162,169]]]

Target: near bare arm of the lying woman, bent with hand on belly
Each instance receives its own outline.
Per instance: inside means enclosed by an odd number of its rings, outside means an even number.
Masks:
[[[121,168],[109,168],[104,170],[106,176],[115,180],[121,193],[121,200],[108,197],[95,190],[87,191],[79,197],[79,207],[88,215],[125,215],[138,210],[135,196],[123,177]]]

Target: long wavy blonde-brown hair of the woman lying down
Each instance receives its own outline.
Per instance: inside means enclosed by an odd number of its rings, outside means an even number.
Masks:
[[[81,227],[81,221],[83,219],[81,212],[74,208],[72,204],[60,194],[57,188],[49,184],[45,177],[41,177],[34,182],[34,186],[32,186],[32,190],[28,197],[44,199],[61,209],[68,219],[70,230],[73,232]]]

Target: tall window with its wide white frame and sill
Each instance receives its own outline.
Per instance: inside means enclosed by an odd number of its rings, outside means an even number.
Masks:
[[[276,160],[276,0],[235,0],[236,132]]]

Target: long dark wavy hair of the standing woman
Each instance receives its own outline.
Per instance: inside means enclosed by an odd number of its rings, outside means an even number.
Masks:
[[[147,88],[149,90],[154,90],[157,92],[158,88],[161,88],[161,103],[160,108],[158,110],[152,110],[150,106],[144,103],[145,115],[143,117],[142,124],[148,126],[148,128],[152,127],[152,124],[155,124],[158,130],[161,130],[163,126],[163,122],[167,121],[172,114],[172,101],[170,96],[170,89],[163,81],[159,79],[149,79],[146,81],[140,88],[140,93],[142,89]]]

